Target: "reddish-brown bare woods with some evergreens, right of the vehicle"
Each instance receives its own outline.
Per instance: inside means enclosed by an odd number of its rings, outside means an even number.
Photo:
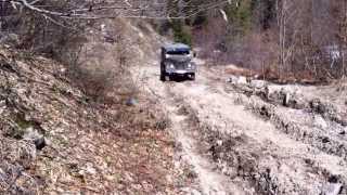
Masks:
[[[200,3],[192,0],[184,8]],[[191,18],[156,22],[156,27],[198,47],[214,64],[232,63],[267,78],[346,76],[345,0],[234,0]]]

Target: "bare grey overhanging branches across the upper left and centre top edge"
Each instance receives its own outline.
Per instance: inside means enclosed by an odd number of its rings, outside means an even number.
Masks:
[[[181,10],[187,8],[185,12],[172,14],[174,8],[166,8],[167,3],[155,3],[151,1],[103,1],[103,3],[92,4],[86,3],[80,8],[65,9],[63,11],[54,10],[54,6],[42,6],[40,0],[2,0],[2,2],[11,3],[15,9],[22,8],[34,13],[54,16],[61,18],[81,18],[81,20],[100,20],[100,18],[154,18],[154,20],[182,20],[192,17],[201,12],[208,11],[230,3],[228,0],[217,2],[202,3],[200,5],[189,5],[189,1],[180,5]],[[136,3],[137,2],[137,3]]]

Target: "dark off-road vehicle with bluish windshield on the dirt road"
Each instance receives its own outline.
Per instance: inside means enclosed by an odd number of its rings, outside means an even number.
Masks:
[[[195,53],[183,43],[162,47],[160,80],[168,81],[179,76],[195,80],[196,64],[193,62]]]

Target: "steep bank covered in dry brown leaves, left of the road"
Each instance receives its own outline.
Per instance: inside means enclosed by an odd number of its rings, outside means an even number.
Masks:
[[[153,102],[92,104],[66,72],[0,49],[0,193],[170,193],[172,141]]]

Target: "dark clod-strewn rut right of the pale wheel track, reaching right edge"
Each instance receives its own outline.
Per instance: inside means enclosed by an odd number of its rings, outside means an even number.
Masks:
[[[291,135],[293,139],[301,141],[319,148],[320,151],[347,159],[347,141],[345,130],[333,122],[324,121],[320,116],[305,113],[303,110],[277,107],[268,103],[248,104],[255,114],[270,120],[278,129]],[[321,120],[322,128],[314,126],[314,119]],[[326,123],[330,125],[326,125]],[[339,129],[336,131],[336,129]]]

